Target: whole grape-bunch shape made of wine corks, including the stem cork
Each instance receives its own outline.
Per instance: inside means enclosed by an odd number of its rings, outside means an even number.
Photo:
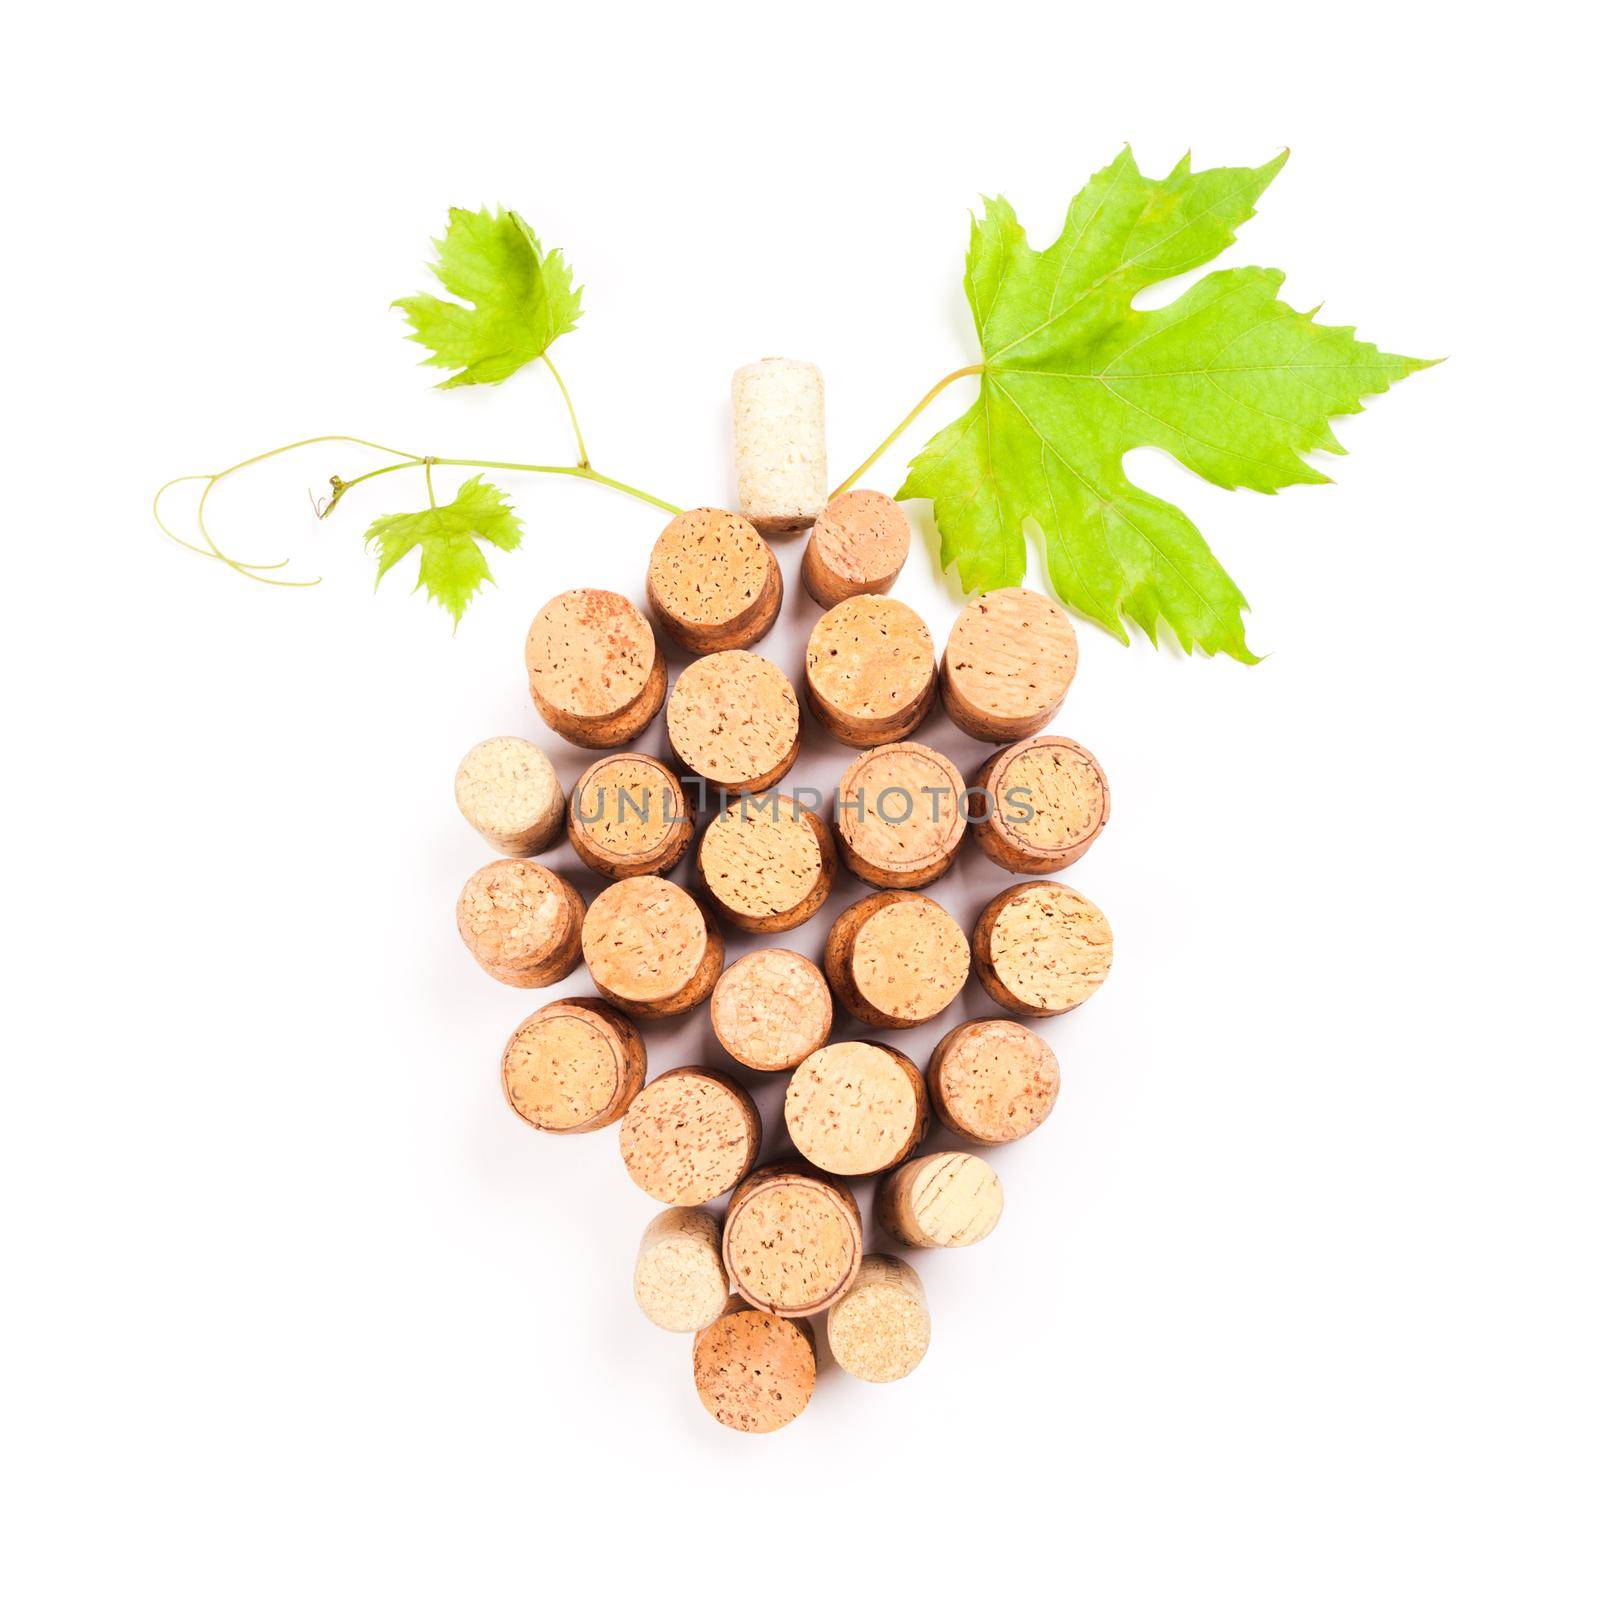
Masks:
[[[1061,606],[982,594],[939,656],[888,594],[904,512],[866,490],[827,501],[816,368],[741,368],[733,398],[741,509],[667,523],[640,574],[650,614],[574,589],[533,619],[533,704],[595,760],[563,795],[526,739],[467,754],[456,798],[499,859],[456,915],[504,984],[586,966],[592,997],[541,1006],[512,1034],[506,1099],[542,1133],[618,1130],[622,1171],[664,1208],[637,1246],[638,1309],[693,1336],[685,1368],[710,1416],[762,1434],[806,1408],[818,1338],[851,1378],[906,1378],[931,1307],[894,1251],[976,1245],[1000,1222],[1000,1178],[979,1152],[1034,1133],[1061,1086],[1054,1051],[1019,1018],[1082,1005],[1110,968],[1099,907],[1048,877],[1091,846],[1109,792],[1086,749],[1042,734],[1077,669]],[[805,530],[800,576],[821,611],[795,685],[752,646],[784,605],[766,541]],[[688,654],[670,688],[662,637]],[[998,746],[974,771],[915,742],[936,704]],[[629,749],[662,712],[677,770]],[[821,806],[779,787],[803,717],[838,742]],[[606,880],[587,904],[530,859],[562,838]],[[970,930],[930,893],[963,848],[1018,875]],[[861,893],[813,962],[784,936],[842,869]],[[762,942],[726,963],[723,928]],[[998,1014],[952,1027],[925,1064],[894,1045],[973,978]],[[680,1026],[702,1005],[728,1059],[651,1077],[640,1024]],[[781,1149],[749,1093],[776,1074]],[[963,1147],[925,1150],[934,1120]],[[872,1253],[874,1232],[891,1250]]]

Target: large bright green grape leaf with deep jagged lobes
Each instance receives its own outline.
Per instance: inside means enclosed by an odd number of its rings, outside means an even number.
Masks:
[[[931,499],[941,562],[966,589],[1021,581],[1029,526],[1067,605],[1126,643],[1166,622],[1184,651],[1254,661],[1243,594],[1200,530],[1131,483],[1123,456],[1157,445],[1222,488],[1326,483],[1304,461],[1342,454],[1331,416],[1430,362],[1384,355],[1352,328],[1278,299],[1282,272],[1211,272],[1171,306],[1134,294],[1203,266],[1286,158],[1146,178],[1123,150],[1034,250],[1011,206],[984,202],[966,299],[984,360],[978,402],[912,461],[899,499]]]

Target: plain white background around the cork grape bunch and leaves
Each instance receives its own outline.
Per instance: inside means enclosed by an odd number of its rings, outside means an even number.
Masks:
[[[11,1592],[1595,1594],[1594,40],[1470,18],[146,6],[13,35]],[[1123,139],[1147,170],[1293,146],[1227,262],[1451,360],[1339,426],[1333,488],[1133,459],[1267,659],[1080,629],[1059,730],[1115,814],[1069,877],[1117,968],[1051,1026],[1059,1110],[997,1157],[1000,1230],[918,1259],[923,1368],[826,1371],[742,1438],[632,1306],[651,1203],[614,1133],[501,1101],[549,995],[451,917],[486,854],[456,760],[542,736],[528,619],[642,595],[661,518],[507,480],[525,547],[453,638],[402,574],[371,594],[360,533],[418,483],[310,517],[360,451],[216,496],[307,592],[166,544],[149,491],[325,430],[566,459],[546,381],[437,394],[386,309],[451,203],[568,251],[602,470],[725,502],[728,376],[781,352],[827,374],[837,480],[973,358],[966,208],[1003,190],[1042,245]],[[898,592],[942,638],[917,515]],[[794,669],[810,619],[792,590],[762,648]],[[845,755],[813,739],[808,771]],[[936,893],[998,886],[974,851]],[[653,1064],[707,1034],[654,1027]]]

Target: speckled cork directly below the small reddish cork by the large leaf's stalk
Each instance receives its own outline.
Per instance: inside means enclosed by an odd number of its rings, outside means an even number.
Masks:
[[[891,744],[933,709],[933,635],[909,605],[853,595],[824,611],[805,653],[806,702],[843,744]]]

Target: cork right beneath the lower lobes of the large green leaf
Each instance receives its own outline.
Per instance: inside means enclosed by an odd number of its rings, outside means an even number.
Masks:
[[[939,669],[950,722],[990,744],[1038,733],[1078,670],[1072,619],[1034,589],[990,589],[962,608]]]

